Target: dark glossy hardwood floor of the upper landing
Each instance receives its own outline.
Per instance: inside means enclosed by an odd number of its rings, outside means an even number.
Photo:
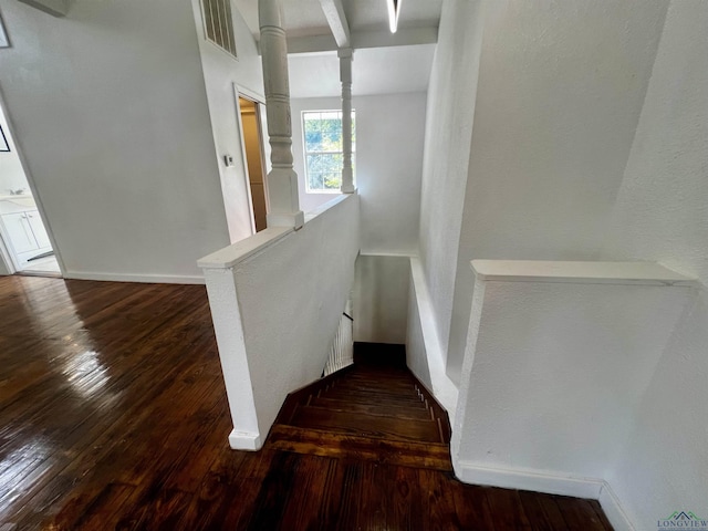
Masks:
[[[393,438],[356,455],[361,434],[323,431],[308,452],[288,427],[228,448],[204,287],[0,278],[2,531],[611,529],[594,501],[462,485],[440,461],[385,458]]]

